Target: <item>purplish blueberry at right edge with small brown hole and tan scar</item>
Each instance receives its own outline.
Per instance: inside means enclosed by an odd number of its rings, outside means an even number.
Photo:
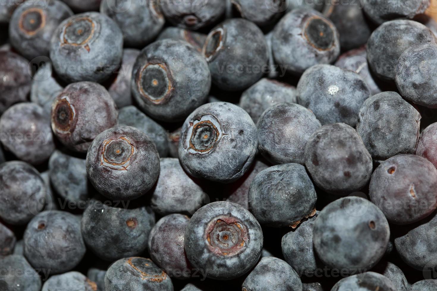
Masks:
[[[430,161],[413,154],[399,154],[375,170],[369,196],[390,223],[405,225],[434,212],[436,189],[437,169]],[[404,207],[399,208],[399,205]]]

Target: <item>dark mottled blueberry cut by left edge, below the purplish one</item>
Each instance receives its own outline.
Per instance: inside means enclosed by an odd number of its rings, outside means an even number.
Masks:
[[[38,213],[46,198],[38,171],[23,161],[0,164],[0,217],[12,225],[25,225]]]

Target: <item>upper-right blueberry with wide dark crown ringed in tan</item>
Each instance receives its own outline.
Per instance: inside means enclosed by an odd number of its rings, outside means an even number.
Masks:
[[[340,54],[339,34],[323,14],[299,8],[282,17],[274,28],[272,50],[277,64],[301,75],[313,65],[335,61]]]

